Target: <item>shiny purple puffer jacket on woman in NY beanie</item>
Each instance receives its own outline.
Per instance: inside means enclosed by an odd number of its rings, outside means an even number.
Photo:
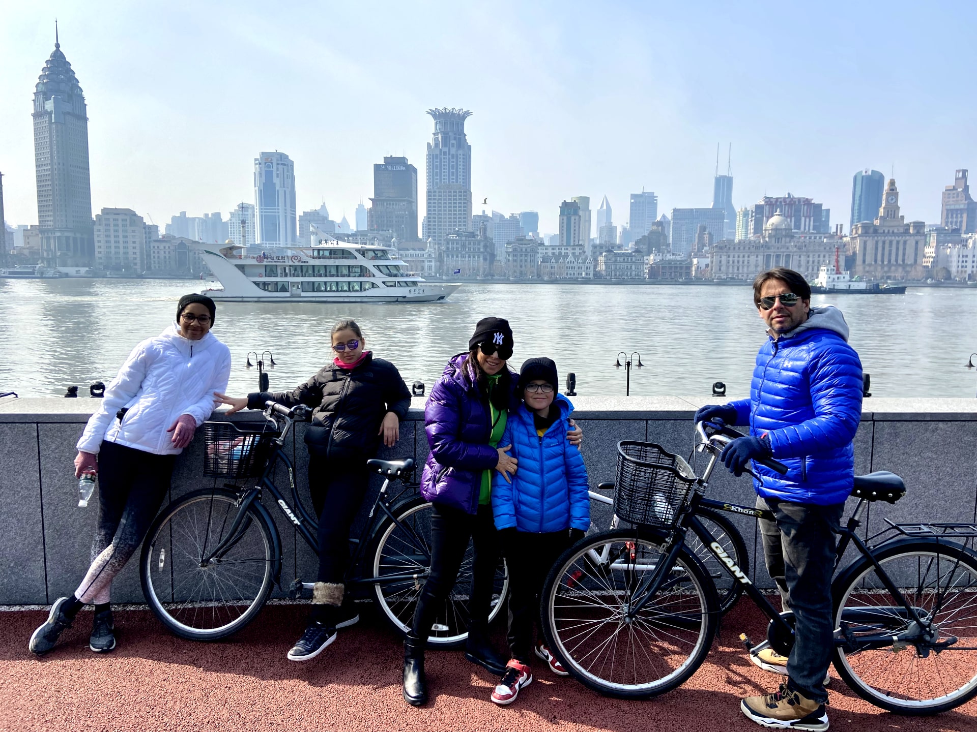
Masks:
[[[421,475],[421,494],[428,501],[476,513],[482,473],[495,467],[498,452],[488,444],[488,399],[475,386],[466,360],[468,354],[459,353],[447,362],[424,406],[431,453]],[[512,382],[515,387],[516,379]],[[509,401],[510,409],[516,406],[515,391]]]

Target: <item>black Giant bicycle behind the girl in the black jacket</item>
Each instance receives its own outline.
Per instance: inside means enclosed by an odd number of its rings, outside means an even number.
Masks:
[[[149,608],[175,634],[192,640],[216,640],[241,630],[257,616],[277,585],[281,588],[281,540],[263,499],[271,496],[298,536],[318,554],[316,519],[299,498],[295,470],[283,450],[296,421],[308,418],[304,405],[288,409],[269,401],[262,429],[241,429],[230,422],[203,425],[204,473],[215,477],[257,477],[251,486],[192,491],[169,504],[149,527],[140,556],[140,576]],[[281,464],[288,475],[289,502],[275,482]],[[351,539],[353,557],[344,580],[347,588],[372,587],[383,616],[406,634],[424,582],[430,575],[429,504],[408,480],[411,458],[370,460],[384,476],[367,521]],[[392,489],[395,483],[400,490]],[[378,510],[379,509],[379,510]],[[464,642],[472,549],[469,546],[454,589],[439,608],[428,642],[451,647]],[[365,572],[357,573],[365,561]],[[288,588],[295,599],[313,583],[296,579]],[[489,622],[501,612],[508,590],[504,563],[496,571]]]

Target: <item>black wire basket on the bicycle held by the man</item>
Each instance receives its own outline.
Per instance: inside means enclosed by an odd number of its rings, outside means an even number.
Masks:
[[[689,464],[660,445],[617,443],[614,512],[622,521],[674,526],[695,483],[696,473]]]

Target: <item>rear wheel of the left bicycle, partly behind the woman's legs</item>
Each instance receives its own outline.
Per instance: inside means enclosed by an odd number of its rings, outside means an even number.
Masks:
[[[373,585],[377,602],[384,616],[395,630],[406,634],[414,617],[417,599],[430,570],[431,509],[433,506],[418,496],[395,512],[400,525],[389,518],[376,533],[373,556]],[[428,643],[451,647],[460,645],[468,637],[468,593],[472,584],[471,543],[458,571],[458,579],[450,594],[438,609]],[[504,607],[509,578],[505,563],[495,570],[492,589],[491,623]]]

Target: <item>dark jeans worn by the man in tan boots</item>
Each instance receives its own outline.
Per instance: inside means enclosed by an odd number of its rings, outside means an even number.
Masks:
[[[791,688],[819,704],[828,701],[825,674],[834,647],[831,575],[835,532],[844,504],[815,506],[757,497],[756,508],[769,508],[777,521],[760,520],[767,571],[781,591],[785,610],[794,614],[794,645],[787,659]]]

